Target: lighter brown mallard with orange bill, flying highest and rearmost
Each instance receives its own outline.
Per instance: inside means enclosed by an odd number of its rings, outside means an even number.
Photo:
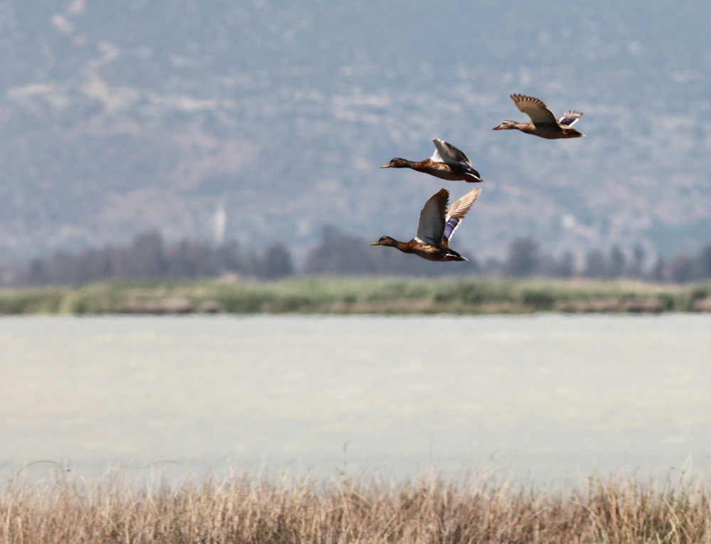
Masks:
[[[558,138],[579,138],[584,136],[582,132],[571,128],[575,122],[582,117],[580,112],[565,112],[563,117],[555,118],[555,115],[548,107],[538,100],[524,95],[511,95],[513,103],[523,113],[531,118],[530,123],[518,123],[515,121],[504,121],[492,130],[518,129],[526,134],[535,134],[541,138],[550,140]]]

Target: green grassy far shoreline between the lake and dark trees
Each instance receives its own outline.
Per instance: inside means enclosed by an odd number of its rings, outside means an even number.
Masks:
[[[5,289],[0,315],[528,314],[711,311],[711,283],[488,278],[301,278],[282,282],[101,282]]]

